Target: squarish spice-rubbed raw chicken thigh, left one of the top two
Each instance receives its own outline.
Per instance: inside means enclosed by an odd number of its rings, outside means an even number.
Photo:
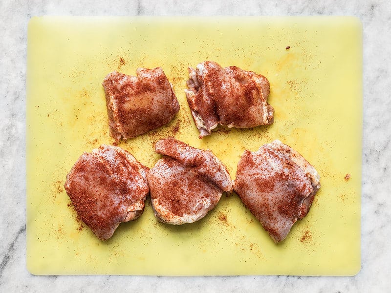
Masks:
[[[103,81],[110,135],[126,140],[169,123],[179,103],[163,69],[138,68],[137,76],[117,71]]]

